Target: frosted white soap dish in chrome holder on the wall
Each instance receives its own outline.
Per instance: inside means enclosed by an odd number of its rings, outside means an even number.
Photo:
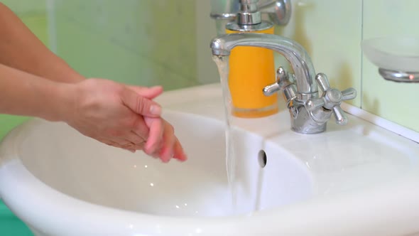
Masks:
[[[386,80],[419,82],[419,38],[366,39],[362,41],[362,50]]]

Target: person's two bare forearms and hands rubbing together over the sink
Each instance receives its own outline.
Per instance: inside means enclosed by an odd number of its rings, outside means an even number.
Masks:
[[[105,144],[185,160],[173,127],[152,101],[161,87],[85,80],[1,3],[0,36],[0,113],[65,121]]]

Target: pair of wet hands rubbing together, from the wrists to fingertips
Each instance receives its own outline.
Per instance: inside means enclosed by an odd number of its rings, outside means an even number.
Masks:
[[[167,162],[172,157],[185,161],[173,127],[160,117],[161,107],[152,99],[162,87],[129,87],[103,79],[75,84],[74,112],[65,118],[85,136],[104,144],[146,154]]]

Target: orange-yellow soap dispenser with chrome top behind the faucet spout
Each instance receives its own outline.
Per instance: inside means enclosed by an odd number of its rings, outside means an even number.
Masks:
[[[236,21],[227,23],[226,33],[273,34],[273,23],[262,21],[258,0],[241,0]],[[235,117],[266,117],[278,112],[278,97],[266,97],[262,89],[276,82],[273,51],[237,46],[229,57],[229,90]]]

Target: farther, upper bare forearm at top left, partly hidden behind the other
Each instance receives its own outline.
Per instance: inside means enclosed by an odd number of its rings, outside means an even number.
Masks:
[[[58,82],[78,82],[84,77],[51,52],[0,3],[0,63]]]

